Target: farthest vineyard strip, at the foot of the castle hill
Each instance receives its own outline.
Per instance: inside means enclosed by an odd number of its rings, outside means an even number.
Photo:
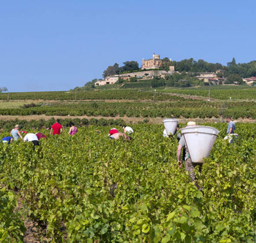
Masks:
[[[143,81],[145,83],[145,81]],[[139,82],[138,82],[139,83]],[[143,83],[143,84],[144,84]],[[133,88],[133,84],[127,84],[122,88],[118,89],[95,89],[94,91],[79,91],[79,92],[67,92],[67,91],[52,91],[52,92],[16,92],[16,93],[2,93],[0,94],[0,100],[104,100],[104,99],[120,99],[120,100],[153,100],[154,88]],[[138,85],[137,85],[138,86]],[[103,87],[104,88],[104,87]],[[198,88],[166,88],[156,89],[155,98],[156,100],[171,101],[175,98],[170,97],[168,94],[183,94],[183,95],[196,95],[207,98],[209,94],[211,98],[229,100],[255,100],[256,87],[250,87],[248,85],[237,85],[237,86],[224,86],[217,85],[211,87],[198,87]],[[181,98],[177,98],[181,100]]]

